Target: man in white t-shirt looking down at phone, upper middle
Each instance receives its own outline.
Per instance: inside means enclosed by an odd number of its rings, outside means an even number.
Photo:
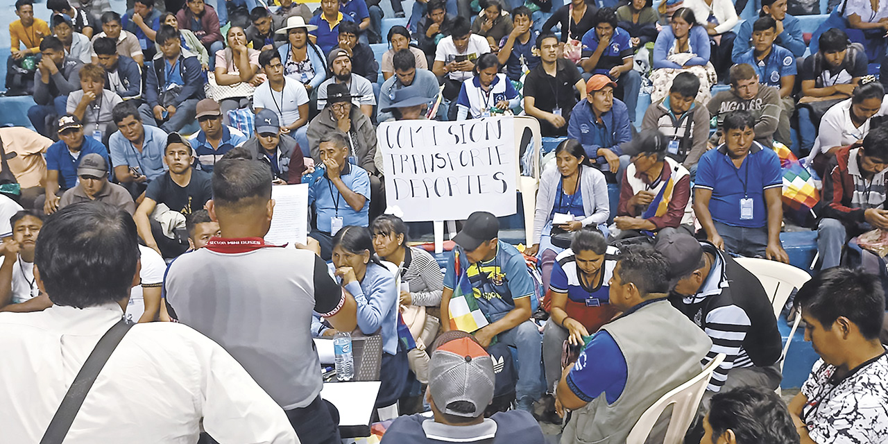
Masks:
[[[443,79],[444,98],[455,100],[464,80],[471,79],[472,70],[482,54],[490,52],[487,39],[472,34],[469,20],[457,17],[453,20],[453,30],[438,42],[435,49],[435,63],[432,72]],[[456,107],[454,115],[456,115]],[[456,120],[456,119],[450,119]]]

